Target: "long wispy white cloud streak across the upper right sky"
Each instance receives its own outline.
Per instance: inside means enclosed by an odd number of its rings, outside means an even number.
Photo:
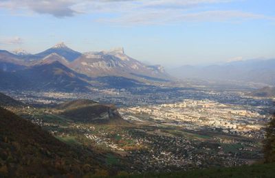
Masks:
[[[167,15],[169,14],[169,15]],[[120,25],[148,25],[170,24],[184,22],[241,22],[255,19],[273,20],[262,14],[253,14],[234,10],[227,11],[204,11],[193,13],[181,13],[175,10],[151,10],[150,12],[136,12],[125,14],[117,18],[100,18],[99,22],[116,23]]]

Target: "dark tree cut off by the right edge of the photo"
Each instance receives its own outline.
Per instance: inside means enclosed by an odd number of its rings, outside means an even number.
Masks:
[[[263,142],[263,153],[265,162],[275,162],[275,114],[265,129],[265,140]]]

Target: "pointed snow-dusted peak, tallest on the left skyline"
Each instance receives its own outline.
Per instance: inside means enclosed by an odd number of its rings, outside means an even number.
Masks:
[[[52,53],[63,56],[69,62],[76,60],[76,58],[80,57],[81,55],[80,52],[70,49],[64,44],[64,42],[61,42],[56,44],[54,47],[47,49],[46,51],[35,54],[34,56],[36,56],[37,58],[45,58],[47,55],[50,55]]]

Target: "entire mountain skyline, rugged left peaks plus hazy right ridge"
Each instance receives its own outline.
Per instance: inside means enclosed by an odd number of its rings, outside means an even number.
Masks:
[[[163,66],[148,65],[124,53],[80,53],[63,42],[41,53],[23,49],[0,50],[1,90],[58,90],[87,92],[92,87],[129,88],[179,79],[239,82],[252,86],[275,85],[274,60],[245,60],[209,66],[181,66],[168,73]],[[172,77],[173,76],[173,77]],[[196,80],[194,80],[196,81]]]

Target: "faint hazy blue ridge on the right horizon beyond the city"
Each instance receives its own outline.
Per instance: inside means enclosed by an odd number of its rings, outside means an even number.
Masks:
[[[181,66],[169,73],[181,79],[197,78],[216,81],[243,81],[275,85],[274,60],[246,60],[212,66]]]

